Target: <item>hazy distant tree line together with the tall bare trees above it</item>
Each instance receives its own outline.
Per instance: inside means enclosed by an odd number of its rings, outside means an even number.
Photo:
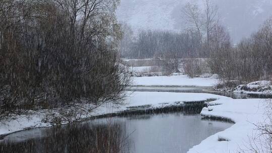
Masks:
[[[187,27],[180,33],[142,30],[134,36],[129,25],[122,24],[121,29],[125,34],[120,44],[122,56],[152,58],[172,54],[179,58],[208,57],[219,18],[216,6],[209,0],[203,2],[203,10],[191,3],[182,8],[181,17]]]

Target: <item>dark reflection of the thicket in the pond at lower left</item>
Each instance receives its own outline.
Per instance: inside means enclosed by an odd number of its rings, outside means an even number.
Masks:
[[[4,142],[1,152],[129,152],[125,124],[71,124],[46,130],[46,137]]]

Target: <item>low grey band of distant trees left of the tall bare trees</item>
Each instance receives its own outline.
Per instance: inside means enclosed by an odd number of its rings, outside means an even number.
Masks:
[[[142,30],[134,40],[122,40],[121,53],[123,57],[136,59],[163,58],[169,54],[178,57],[199,57],[204,56],[200,40],[195,32]]]

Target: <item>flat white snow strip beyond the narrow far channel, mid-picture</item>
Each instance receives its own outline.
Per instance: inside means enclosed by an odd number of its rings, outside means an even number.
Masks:
[[[199,86],[213,87],[219,82],[214,77],[189,78],[187,75],[171,75],[160,77],[135,77],[133,86]]]

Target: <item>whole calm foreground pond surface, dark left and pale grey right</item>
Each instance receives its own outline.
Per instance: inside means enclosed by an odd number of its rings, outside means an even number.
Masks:
[[[184,112],[103,118],[13,133],[0,152],[186,152],[231,125]]]

